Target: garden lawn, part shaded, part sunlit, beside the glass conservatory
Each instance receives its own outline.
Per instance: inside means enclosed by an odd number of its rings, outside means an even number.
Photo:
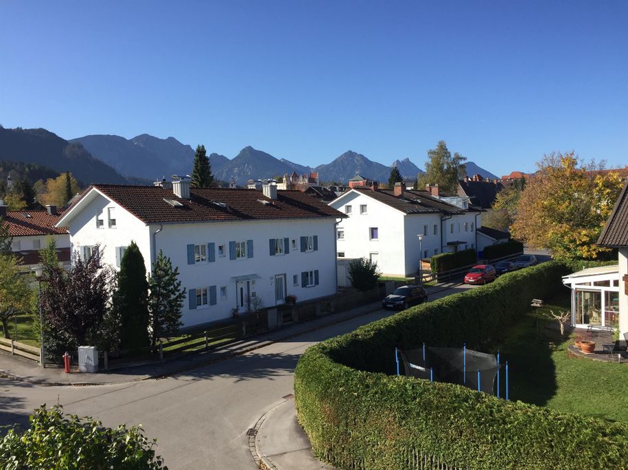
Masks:
[[[538,334],[535,312],[521,319],[500,341],[502,363],[509,362],[511,399],[564,412],[628,421],[628,364],[598,362],[570,356],[567,346],[574,334],[561,341],[548,311],[567,310],[569,297],[539,308]]]

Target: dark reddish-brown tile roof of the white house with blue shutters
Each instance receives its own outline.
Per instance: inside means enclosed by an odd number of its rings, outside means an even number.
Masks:
[[[346,217],[299,190],[279,190],[277,199],[273,200],[254,189],[191,188],[191,198],[182,199],[160,186],[95,184],[93,187],[144,223]],[[88,192],[89,188],[84,194]],[[165,199],[181,206],[172,206]]]

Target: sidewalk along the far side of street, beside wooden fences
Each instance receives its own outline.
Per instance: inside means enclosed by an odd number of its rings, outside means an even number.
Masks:
[[[457,282],[445,282],[436,286],[426,286],[426,290],[428,295],[432,297],[434,294],[441,293],[443,290],[448,290],[458,285]],[[289,327],[246,338],[218,349],[172,358],[164,362],[153,362],[137,366],[130,365],[124,369],[109,372],[64,373],[63,369],[50,367],[42,369],[36,362],[19,358],[19,356],[11,356],[4,351],[0,351],[0,377],[47,386],[104,385],[136,382],[137,380],[174,375],[176,373],[213,364],[220,360],[229,359],[233,356],[240,356],[248,351],[253,351],[254,349],[277,343],[278,341],[283,341],[293,336],[299,336],[306,332],[318,330],[328,325],[333,325],[334,323],[340,323],[341,321],[349,320],[353,317],[359,317],[360,315],[380,310],[380,308],[382,308],[382,304],[380,301],[377,301],[372,304],[352,308],[345,312],[326,314],[312,321],[295,323]]]

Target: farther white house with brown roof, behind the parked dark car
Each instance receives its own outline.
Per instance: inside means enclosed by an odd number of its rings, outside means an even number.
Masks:
[[[386,275],[414,275],[420,258],[477,247],[481,211],[461,208],[426,191],[351,188],[329,203],[343,212],[338,258],[376,260]],[[419,237],[421,235],[419,254]]]

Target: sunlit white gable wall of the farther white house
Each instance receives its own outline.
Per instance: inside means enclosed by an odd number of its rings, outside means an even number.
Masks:
[[[345,258],[375,258],[382,273],[404,275],[404,213],[360,193],[349,193],[329,203],[344,213],[347,205],[351,214],[338,223],[338,230],[345,232],[345,238],[338,240],[338,252],[345,253]],[[361,205],[367,206],[366,214],[360,214]],[[371,227],[377,227],[377,240],[371,240]]]

